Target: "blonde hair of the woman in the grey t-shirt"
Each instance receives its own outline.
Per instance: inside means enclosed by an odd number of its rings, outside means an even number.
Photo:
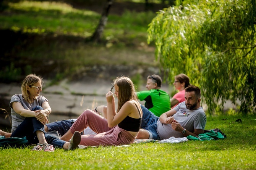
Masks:
[[[40,75],[29,74],[23,80],[21,84],[21,93],[22,93],[23,99],[25,99],[26,102],[32,103],[32,101],[29,98],[29,92],[27,90],[27,87],[32,87],[32,85],[34,85],[34,83],[37,83],[38,81],[41,81],[41,84],[42,84],[43,83],[42,79],[43,78]]]

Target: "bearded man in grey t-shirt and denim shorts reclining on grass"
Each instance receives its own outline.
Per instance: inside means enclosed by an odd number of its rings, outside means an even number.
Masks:
[[[206,114],[200,106],[201,90],[193,85],[185,88],[185,100],[160,115],[155,122],[147,124],[145,129],[140,129],[137,139],[163,140],[172,136],[179,138],[204,133]]]

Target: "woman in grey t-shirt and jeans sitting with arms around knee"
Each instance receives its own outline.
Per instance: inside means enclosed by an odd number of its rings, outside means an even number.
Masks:
[[[44,125],[48,123],[47,115],[51,112],[48,100],[40,95],[42,91],[42,77],[29,74],[21,85],[22,94],[11,97],[12,128],[10,137],[26,136],[28,144],[37,143],[32,151],[53,152],[53,145],[64,149],[75,149],[80,140],[80,133],[76,132],[70,142],[61,141],[45,133]],[[75,142],[73,141],[75,140]]]

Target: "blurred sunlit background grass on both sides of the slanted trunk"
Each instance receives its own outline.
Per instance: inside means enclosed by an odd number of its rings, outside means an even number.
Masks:
[[[125,11],[122,16],[109,15],[102,37],[125,39],[140,34],[144,37],[141,40],[146,42],[147,25],[155,15],[150,11]],[[8,9],[0,14],[0,29],[87,38],[95,31],[99,19],[100,14],[94,11],[76,9],[67,3],[21,1],[8,3]]]

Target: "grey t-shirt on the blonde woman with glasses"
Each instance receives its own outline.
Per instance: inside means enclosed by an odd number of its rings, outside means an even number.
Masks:
[[[10,102],[10,107],[11,107],[11,119],[12,119],[12,127],[11,127],[11,132],[14,132],[18,125],[23,122],[23,120],[26,118],[24,116],[21,116],[20,114],[16,113],[13,110],[12,103],[13,102],[19,102],[21,105],[24,107],[24,109],[27,110],[32,110],[33,107],[35,106],[42,106],[42,104],[48,101],[44,96],[38,96],[36,99],[34,99],[33,103],[28,103],[23,99],[22,95],[13,95],[11,97],[11,102]]]

